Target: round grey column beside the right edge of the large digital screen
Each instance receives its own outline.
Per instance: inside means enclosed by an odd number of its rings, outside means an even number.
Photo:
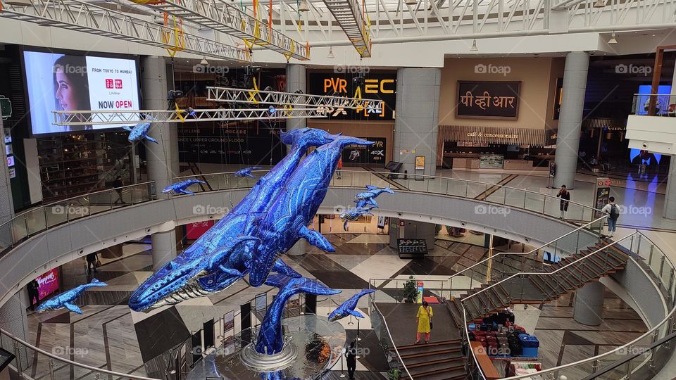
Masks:
[[[148,109],[167,108],[167,91],[173,88],[169,85],[167,64],[165,58],[146,56],[143,58],[143,105]],[[144,141],[146,144],[146,163],[148,179],[155,181],[158,198],[162,189],[173,182],[173,177],[179,174],[178,167],[178,131],[175,123],[155,123],[148,135],[160,144]],[[169,260],[176,257],[175,230],[153,234],[153,270],[158,270]]]

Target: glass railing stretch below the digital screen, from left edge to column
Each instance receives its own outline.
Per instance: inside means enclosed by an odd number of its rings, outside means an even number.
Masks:
[[[13,248],[28,237],[46,229],[83,217],[152,201],[154,198],[155,182],[144,182],[117,189],[95,191],[31,208],[0,224],[0,252]]]

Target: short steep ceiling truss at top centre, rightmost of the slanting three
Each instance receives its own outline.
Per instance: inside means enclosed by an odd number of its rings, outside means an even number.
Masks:
[[[324,0],[324,4],[362,58],[371,56],[371,23],[365,0]]]

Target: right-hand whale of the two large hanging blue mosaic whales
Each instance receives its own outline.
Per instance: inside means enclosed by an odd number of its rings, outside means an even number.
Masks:
[[[261,286],[268,278],[277,253],[286,253],[300,238],[327,252],[335,248],[322,234],[308,229],[326,196],[329,183],[345,146],[370,145],[372,141],[334,136],[333,141],[316,148],[294,170],[268,213],[258,224],[258,244],[249,268],[251,286]]]

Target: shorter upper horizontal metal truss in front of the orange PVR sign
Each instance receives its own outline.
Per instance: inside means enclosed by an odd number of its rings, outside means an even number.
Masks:
[[[382,101],[377,99],[346,98],[342,96],[308,95],[295,92],[258,91],[256,89],[230,89],[207,87],[206,100],[231,103],[272,105],[277,108],[344,108],[362,110],[378,108]]]

